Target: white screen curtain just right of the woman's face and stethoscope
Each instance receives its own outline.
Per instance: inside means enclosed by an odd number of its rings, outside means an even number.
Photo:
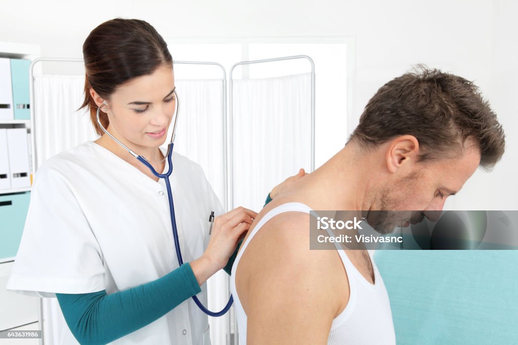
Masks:
[[[177,67],[175,67],[177,68]],[[202,166],[224,205],[223,80],[177,79],[179,118],[175,151]],[[174,162],[173,162],[174,164]],[[209,310],[223,309],[228,299],[227,275],[220,271],[207,282]],[[209,318],[213,345],[226,343],[227,318]]]

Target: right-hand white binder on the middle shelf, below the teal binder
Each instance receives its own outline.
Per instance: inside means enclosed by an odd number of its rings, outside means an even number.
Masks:
[[[7,128],[7,150],[11,170],[11,188],[31,186],[26,128]]]

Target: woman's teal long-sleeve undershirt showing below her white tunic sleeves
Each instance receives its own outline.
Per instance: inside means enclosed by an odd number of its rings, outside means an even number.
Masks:
[[[270,195],[265,205],[271,201]],[[224,270],[231,274],[236,250]],[[189,263],[164,277],[107,294],[106,290],[85,294],[56,293],[70,331],[81,344],[106,344],[160,319],[184,300],[200,293]]]

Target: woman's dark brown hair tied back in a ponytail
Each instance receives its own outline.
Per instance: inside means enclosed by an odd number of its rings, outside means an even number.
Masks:
[[[161,66],[172,68],[172,57],[162,36],[148,22],[138,19],[116,18],[94,28],[84,41],[83,59],[86,77],[84,102],[79,109],[88,107],[98,135],[104,132],[97,124],[91,88],[109,99],[119,85],[133,78],[150,75]],[[99,120],[108,127],[104,111],[100,111]]]

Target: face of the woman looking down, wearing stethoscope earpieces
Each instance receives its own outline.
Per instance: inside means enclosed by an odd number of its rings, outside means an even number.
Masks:
[[[174,89],[171,66],[120,85],[108,100],[108,132],[136,146],[161,146],[176,109]]]

